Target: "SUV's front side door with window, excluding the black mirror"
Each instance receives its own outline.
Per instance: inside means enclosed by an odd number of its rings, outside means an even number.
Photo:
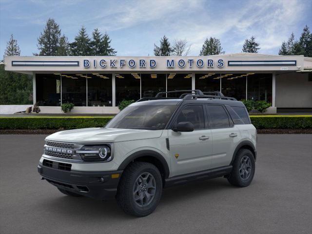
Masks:
[[[171,176],[210,169],[212,154],[211,130],[207,129],[202,105],[184,106],[178,113],[174,126],[191,122],[193,132],[168,131],[170,144]]]

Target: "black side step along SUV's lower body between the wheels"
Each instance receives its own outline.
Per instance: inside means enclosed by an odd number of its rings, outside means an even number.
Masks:
[[[230,174],[232,171],[232,165],[225,167],[218,167],[215,169],[209,169],[205,171],[184,174],[181,176],[174,176],[165,180],[165,187],[188,183],[194,180],[212,179],[220,176]]]

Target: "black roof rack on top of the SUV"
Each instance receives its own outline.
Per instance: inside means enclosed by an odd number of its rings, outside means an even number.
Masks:
[[[171,93],[182,93],[179,98],[168,98],[162,97],[164,94],[171,94]],[[155,97],[145,97],[140,98],[137,102],[140,101],[148,101],[148,100],[161,100],[161,99],[183,99],[183,100],[193,100],[197,98],[213,98],[213,99],[223,99],[223,100],[233,100],[236,101],[236,98],[225,97],[221,92],[202,92],[199,89],[195,90],[175,90],[175,91],[168,91],[168,92],[160,92],[156,94]]]

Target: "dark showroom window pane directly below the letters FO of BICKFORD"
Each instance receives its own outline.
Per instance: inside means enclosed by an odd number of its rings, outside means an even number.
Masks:
[[[124,100],[140,99],[140,74],[116,74],[116,106]]]

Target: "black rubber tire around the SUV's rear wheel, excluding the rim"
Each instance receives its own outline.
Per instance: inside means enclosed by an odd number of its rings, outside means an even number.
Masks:
[[[247,158],[250,160],[251,171],[248,178],[244,179],[240,175],[240,165],[243,158]],[[254,163],[254,155],[250,150],[247,149],[240,149],[235,156],[233,162],[233,169],[230,176],[227,177],[230,184],[237,186],[237,187],[246,187],[250,185],[254,178],[254,171],[255,171],[255,163]]]

